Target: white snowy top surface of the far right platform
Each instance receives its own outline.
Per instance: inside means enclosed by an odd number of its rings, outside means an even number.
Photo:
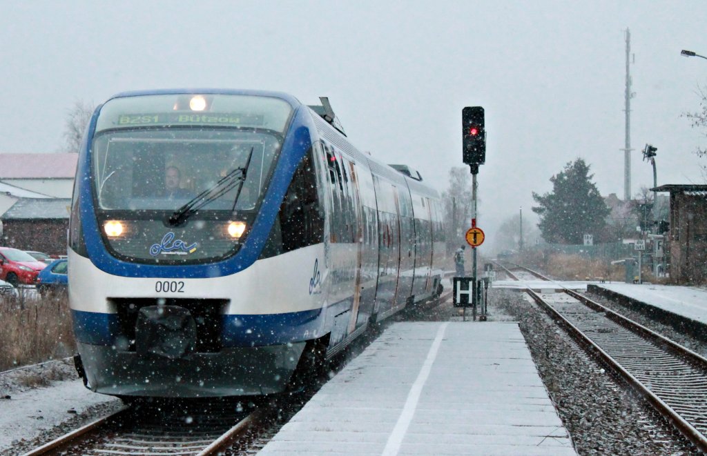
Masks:
[[[707,289],[653,284],[599,284],[650,306],[707,324]]]

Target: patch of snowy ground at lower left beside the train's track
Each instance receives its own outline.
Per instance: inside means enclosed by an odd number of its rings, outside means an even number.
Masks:
[[[2,373],[0,377],[9,375]],[[6,386],[0,392],[1,454],[13,454],[17,440],[31,440],[66,421],[76,421],[77,416],[100,404],[117,407],[120,402],[87,390],[76,378],[54,381],[46,388]]]

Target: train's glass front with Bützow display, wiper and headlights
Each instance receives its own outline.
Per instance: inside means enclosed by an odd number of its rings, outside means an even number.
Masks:
[[[235,253],[267,189],[291,112],[284,100],[245,95],[107,102],[91,164],[109,250],[124,259],[167,264]],[[198,212],[170,224],[170,216],[189,203]]]

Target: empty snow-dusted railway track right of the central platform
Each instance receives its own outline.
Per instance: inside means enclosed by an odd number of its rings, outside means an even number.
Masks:
[[[506,273],[514,277],[507,269]],[[707,452],[707,359],[572,290],[526,292]]]

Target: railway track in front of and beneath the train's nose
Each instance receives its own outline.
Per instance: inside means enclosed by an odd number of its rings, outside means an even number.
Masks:
[[[230,412],[213,405],[189,408],[124,408],[25,456],[212,455],[228,448],[266,415],[264,409]]]

